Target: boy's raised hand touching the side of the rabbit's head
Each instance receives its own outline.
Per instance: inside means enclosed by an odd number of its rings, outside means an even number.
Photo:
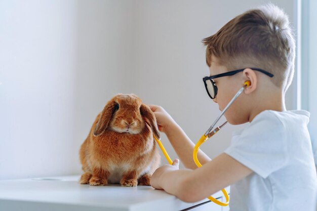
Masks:
[[[174,121],[174,119],[171,117],[171,115],[166,112],[166,110],[162,106],[157,105],[148,105],[150,109],[153,111],[157,126],[159,130],[163,133],[166,133],[166,130],[169,128],[169,125]]]

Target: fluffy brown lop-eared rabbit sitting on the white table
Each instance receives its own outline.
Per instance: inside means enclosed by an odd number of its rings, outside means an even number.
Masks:
[[[150,185],[160,165],[153,133],[160,138],[151,109],[134,94],[114,96],[98,114],[80,149],[80,184]]]

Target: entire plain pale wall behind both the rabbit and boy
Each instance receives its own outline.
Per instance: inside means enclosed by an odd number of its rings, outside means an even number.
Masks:
[[[80,145],[116,93],[162,105],[196,142],[219,114],[201,40],[265,2],[0,1],[0,179],[80,174]],[[293,4],[271,2],[293,20]],[[201,148],[215,157],[241,127]]]

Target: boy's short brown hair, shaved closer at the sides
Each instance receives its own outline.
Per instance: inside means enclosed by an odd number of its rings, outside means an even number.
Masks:
[[[228,70],[257,67],[274,74],[284,91],[292,82],[295,40],[288,16],[273,4],[236,16],[203,43],[208,66],[214,55]]]

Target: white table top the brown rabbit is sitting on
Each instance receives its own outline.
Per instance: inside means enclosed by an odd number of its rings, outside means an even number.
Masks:
[[[110,184],[94,187],[78,184],[79,178],[76,175],[0,180],[0,210],[228,210],[228,207],[222,209],[208,199],[186,203],[150,186],[121,187]],[[221,191],[213,197],[224,198]]]

